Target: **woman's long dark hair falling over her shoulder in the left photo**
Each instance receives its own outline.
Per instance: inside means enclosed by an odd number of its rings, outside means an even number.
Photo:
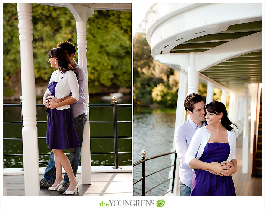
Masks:
[[[53,48],[53,49],[51,49],[49,51],[48,57],[57,59],[59,71],[61,71],[62,73],[65,73],[66,71],[72,70],[72,71],[74,71],[74,73],[76,74],[76,77],[77,77],[77,72],[70,65],[70,61],[69,61],[69,59],[67,57],[67,54],[64,51],[64,49],[62,49],[62,48]]]

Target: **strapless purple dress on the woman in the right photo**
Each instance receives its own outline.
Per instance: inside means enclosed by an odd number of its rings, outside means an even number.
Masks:
[[[200,159],[203,162],[226,161],[230,153],[228,143],[207,143]],[[194,169],[191,196],[235,196],[232,176],[219,176],[208,171]]]

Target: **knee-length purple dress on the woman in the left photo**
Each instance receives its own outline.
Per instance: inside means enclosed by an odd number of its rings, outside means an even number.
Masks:
[[[48,88],[55,96],[57,82],[51,81]],[[69,149],[79,147],[71,108],[57,110],[47,108],[47,141],[50,149]]]

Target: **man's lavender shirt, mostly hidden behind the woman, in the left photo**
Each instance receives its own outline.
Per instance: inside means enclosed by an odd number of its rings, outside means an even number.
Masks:
[[[76,118],[81,114],[86,114],[86,99],[84,93],[86,87],[86,73],[84,68],[77,65],[74,60],[71,65],[77,71],[77,80],[78,80],[79,94],[80,94],[79,100],[71,104],[73,118]]]

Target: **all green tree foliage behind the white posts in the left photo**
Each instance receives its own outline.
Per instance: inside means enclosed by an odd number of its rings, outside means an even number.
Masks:
[[[20,71],[17,4],[3,4],[3,11],[4,82],[8,84]],[[131,11],[94,12],[86,25],[89,88],[131,87]],[[77,49],[76,20],[68,8],[33,4],[32,22],[35,78],[48,80],[55,70],[48,63],[49,50],[65,40]]]

